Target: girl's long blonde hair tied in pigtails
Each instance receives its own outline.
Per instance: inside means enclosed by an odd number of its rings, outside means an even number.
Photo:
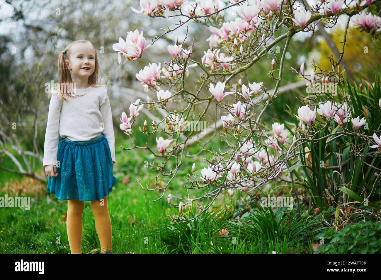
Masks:
[[[65,60],[69,61],[69,57],[71,54],[72,47],[75,44],[81,44],[81,43],[90,43],[95,50],[95,69],[94,69],[93,74],[91,74],[91,76],[89,77],[88,83],[94,87],[106,86],[106,85],[102,85],[98,82],[98,74],[100,73],[101,77],[102,77],[102,70],[99,67],[98,53],[97,53],[97,50],[94,47],[93,43],[91,43],[90,41],[85,40],[85,39],[74,41],[74,42],[70,43],[69,45],[67,45],[66,48],[64,49],[65,52],[61,51],[61,53],[59,54],[59,57],[58,57],[58,86],[54,87],[54,89],[58,92],[58,94],[61,96],[61,98],[65,101],[67,101],[65,95],[69,96],[70,98],[79,97],[79,96],[73,96],[72,95],[72,94],[74,94],[74,92],[72,91],[72,88],[71,88],[73,81],[72,81],[72,78],[70,75],[70,70],[67,69]],[[60,86],[60,85],[64,85],[66,89],[69,88],[70,94],[67,92],[67,90],[61,91],[62,86]]]

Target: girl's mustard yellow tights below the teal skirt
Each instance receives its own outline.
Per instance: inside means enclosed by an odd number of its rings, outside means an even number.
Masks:
[[[72,254],[82,254],[82,213],[84,203],[78,199],[67,200],[66,229]],[[107,196],[104,201],[91,201],[91,210],[95,218],[95,228],[101,243],[101,254],[112,252],[111,248],[111,219],[107,208]]]

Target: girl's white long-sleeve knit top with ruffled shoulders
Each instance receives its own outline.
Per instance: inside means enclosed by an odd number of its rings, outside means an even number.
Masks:
[[[115,138],[107,88],[89,86],[74,90],[79,97],[64,101],[55,90],[49,104],[43,166],[56,165],[59,137],[72,141],[89,141],[104,133],[115,163]]]

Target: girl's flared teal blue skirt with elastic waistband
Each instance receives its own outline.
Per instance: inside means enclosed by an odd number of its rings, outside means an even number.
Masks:
[[[102,133],[90,141],[58,142],[58,176],[48,178],[48,190],[60,200],[99,200],[112,192],[116,177],[112,173],[109,143]]]

